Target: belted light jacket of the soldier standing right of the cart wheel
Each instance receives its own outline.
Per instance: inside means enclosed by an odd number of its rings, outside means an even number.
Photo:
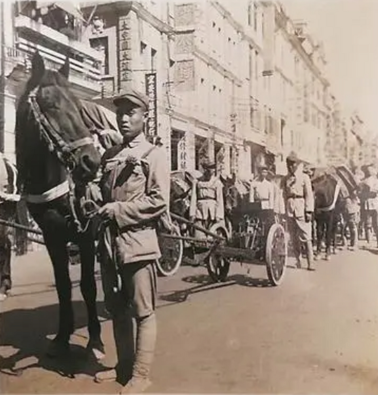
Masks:
[[[301,169],[282,179],[282,193],[289,217],[303,218],[306,212],[314,212],[314,193],[310,177]]]

